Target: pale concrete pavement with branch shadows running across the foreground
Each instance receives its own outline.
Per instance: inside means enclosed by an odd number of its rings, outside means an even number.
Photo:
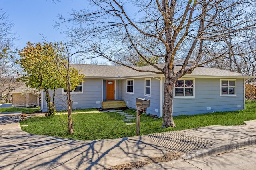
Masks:
[[[8,119],[8,116],[12,119]],[[13,120],[14,117],[16,121]],[[16,115],[0,114],[0,169],[98,170],[164,156],[173,151],[184,153],[179,160],[188,160],[255,144],[256,120],[246,121],[246,124],[79,141],[26,133],[21,131]],[[156,169],[156,166],[157,164],[150,164],[145,168]]]

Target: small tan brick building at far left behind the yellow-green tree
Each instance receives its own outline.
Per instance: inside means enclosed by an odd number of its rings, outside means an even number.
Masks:
[[[12,92],[12,107],[40,106],[40,92],[34,88],[23,85]]]

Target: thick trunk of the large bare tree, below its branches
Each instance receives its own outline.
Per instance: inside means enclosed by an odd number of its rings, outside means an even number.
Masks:
[[[165,76],[164,82],[164,105],[163,105],[163,124],[162,128],[176,127],[173,118],[173,96],[175,78],[171,74]]]

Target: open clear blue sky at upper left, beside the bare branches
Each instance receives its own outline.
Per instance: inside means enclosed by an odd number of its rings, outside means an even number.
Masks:
[[[52,27],[58,14],[68,16],[68,12],[88,6],[88,0],[0,0],[1,11],[9,14],[9,21],[14,23],[12,32],[19,38],[14,41],[18,49],[26,47],[28,41],[42,42],[42,35],[47,41],[63,41],[64,34]],[[90,61],[88,61],[90,62]]]

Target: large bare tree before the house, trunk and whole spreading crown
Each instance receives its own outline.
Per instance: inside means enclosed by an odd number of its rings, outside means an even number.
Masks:
[[[232,54],[226,43],[228,35],[239,35],[255,27],[255,0],[91,0],[90,9],[73,11],[70,18],[59,16],[56,26],[74,23],[66,31],[70,45],[85,57],[104,57],[139,72],[164,74],[162,127],[175,127],[172,119],[175,82],[201,64]],[[232,17],[225,15],[233,10]],[[234,23],[231,27],[226,27]],[[237,39],[239,41],[239,39]],[[212,46],[215,44],[214,46]],[[211,53],[214,50],[215,53]],[[135,51],[154,70],[140,70],[117,57]],[[208,57],[204,60],[204,57]],[[163,58],[164,68],[151,58]],[[184,59],[174,70],[174,59]],[[188,60],[195,62],[186,67]],[[201,61],[201,64],[199,64]]]

